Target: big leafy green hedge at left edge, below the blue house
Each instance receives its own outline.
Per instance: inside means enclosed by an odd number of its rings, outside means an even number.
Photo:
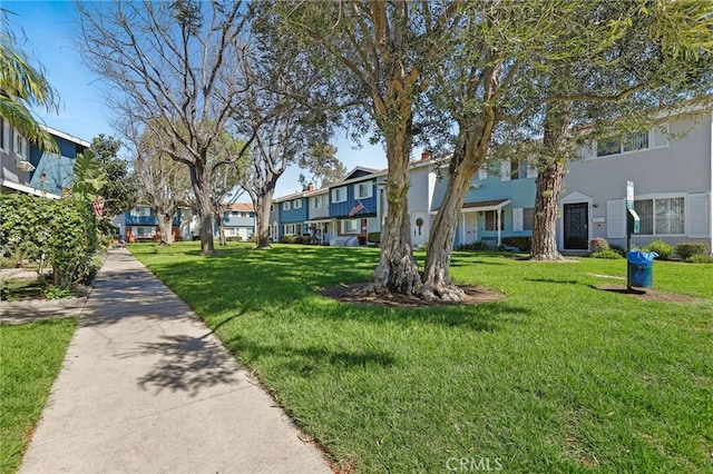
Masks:
[[[97,221],[90,206],[77,199],[0,195],[0,245],[21,250],[27,259],[42,257],[52,266],[55,284],[85,282],[97,249]]]

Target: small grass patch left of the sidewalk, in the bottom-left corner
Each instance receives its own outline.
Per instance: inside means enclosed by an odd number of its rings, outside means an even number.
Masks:
[[[78,318],[0,325],[0,472],[18,470]]]

